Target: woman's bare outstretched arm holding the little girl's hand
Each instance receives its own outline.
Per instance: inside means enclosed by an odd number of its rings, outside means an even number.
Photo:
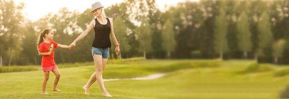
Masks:
[[[90,24],[88,25],[87,29],[85,31],[83,31],[69,46],[69,49],[71,48],[74,48],[76,43],[83,39],[85,36],[87,36],[87,34],[94,28],[94,24],[95,24],[95,21],[94,19],[91,20]]]

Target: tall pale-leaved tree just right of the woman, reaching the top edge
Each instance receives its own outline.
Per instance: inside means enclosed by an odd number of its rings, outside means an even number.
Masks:
[[[155,24],[151,24],[151,18],[155,13],[155,0],[125,0],[125,2],[129,18],[138,26],[135,33],[137,37],[136,40],[139,40],[141,43],[139,51],[143,51],[144,57],[146,57],[146,52],[150,52],[152,49],[151,35],[153,32],[152,28],[155,27]]]

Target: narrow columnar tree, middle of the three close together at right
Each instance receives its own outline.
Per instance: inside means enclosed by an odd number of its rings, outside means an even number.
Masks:
[[[243,11],[237,23],[238,47],[242,50],[244,58],[247,58],[248,51],[252,50],[250,23],[247,14]]]

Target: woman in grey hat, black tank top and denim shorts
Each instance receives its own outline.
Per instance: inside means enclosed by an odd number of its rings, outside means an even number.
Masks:
[[[95,82],[98,81],[98,84],[103,92],[103,96],[112,97],[105,89],[102,73],[106,66],[108,57],[109,57],[109,48],[111,48],[110,37],[112,37],[116,45],[116,54],[120,53],[120,44],[117,41],[117,38],[113,30],[113,20],[112,18],[107,18],[103,9],[103,5],[100,2],[95,2],[92,4],[92,13],[96,16],[95,19],[92,19],[88,28],[82,32],[69,46],[69,48],[74,48],[76,43],[83,39],[87,34],[94,29],[95,38],[92,44],[92,56],[94,59],[96,70],[91,75],[89,81],[86,85],[83,86],[85,94],[88,95],[89,87]]]

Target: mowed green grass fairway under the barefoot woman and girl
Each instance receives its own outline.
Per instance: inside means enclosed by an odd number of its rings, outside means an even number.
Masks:
[[[289,85],[289,76],[276,77],[274,73],[288,67],[270,65],[272,70],[242,73],[254,62],[140,60],[108,64],[104,79],[166,74],[153,80],[107,81],[105,86],[112,98],[103,97],[97,83],[90,88],[90,95],[84,95],[82,86],[95,71],[93,65],[60,68],[61,93],[51,91],[55,76],[50,72],[46,87],[50,95],[40,94],[42,71],[0,73],[0,99],[279,99]]]

